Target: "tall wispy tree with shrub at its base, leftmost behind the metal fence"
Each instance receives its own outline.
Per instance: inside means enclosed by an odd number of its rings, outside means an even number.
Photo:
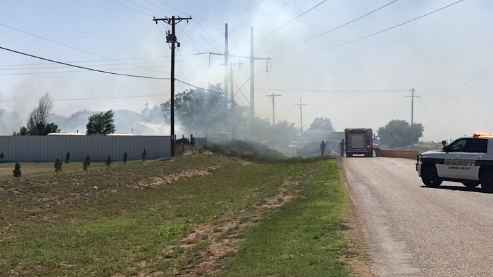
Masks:
[[[27,118],[27,127],[21,127],[14,135],[48,135],[49,133],[60,133],[58,125],[48,123],[48,116],[53,109],[53,99],[46,94],[42,96],[38,107],[34,108]]]

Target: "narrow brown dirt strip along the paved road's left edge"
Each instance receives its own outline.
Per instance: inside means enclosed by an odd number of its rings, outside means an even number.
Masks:
[[[344,185],[344,191],[348,198],[349,206],[351,207],[351,218],[349,222],[346,222],[346,226],[349,230],[344,235],[344,239],[349,243],[349,246],[357,249],[359,253],[351,257],[343,257],[342,261],[349,265],[351,276],[357,277],[375,277],[376,275],[371,271],[370,265],[372,261],[370,259],[368,238],[364,234],[362,229],[362,219],[359,213],[358,207],[355,205],[353,198],[353,192],[351,187],[347,183],[346,172],[344,171],[344,159],[338,157],[338,163],[342,174],[342,184]]]

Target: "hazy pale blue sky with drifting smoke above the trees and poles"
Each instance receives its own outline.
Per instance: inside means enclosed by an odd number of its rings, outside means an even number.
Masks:
[[[272,59],[268,66],[255,62],[256,116],[272,120],[267,94],[274,93],[281,95],[275,98],[276,121],[299,127],[301,98],[307,104],[305,130],[316,117],[330,118],[336,131],[376,130],[390,120],[411,122],[412,98],[405,96],[414,88],[420,96],[414,98],[414,122],[425,127],[422,140],[441,141],[493,133],[493,2],[451,5],[457,1],[0,0],[0,47],[98,70],[169,78],[170,27],[156,25],[153,16],[191,16],[176,27],[181,42],[176,78],[207,88],[224,83],[224,60],[212,56],[209,67],[207,55],[194,54],[223,53],[227,23],[229,53],[249,56],[253,27],[255,56]],[[249,60],[230,62],[243,62],[233,70],[240,87],[249,79]],[[187,89],[190,85],[176,83],[176,92]],[[242,92],[249,99],[249,82]],[[47,93],[55,98],[53,112],[62,116],[84,109],[140,112],[146,104],[168,101],[170,81],[91,72],[0,49],[0,109],[16,111],[25,122]],[[236,97],[239,105],[249,105],[241,92]]]

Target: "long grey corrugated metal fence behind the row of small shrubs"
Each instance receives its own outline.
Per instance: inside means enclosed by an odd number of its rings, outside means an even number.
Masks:
[[[86,154],[92,161],[121,161],[127,152],[129,160],[170,157],[170,136],[151,135],[10,135],[0,136],[3,161],[65,161],[67,152],[72,161],[84,161]]]

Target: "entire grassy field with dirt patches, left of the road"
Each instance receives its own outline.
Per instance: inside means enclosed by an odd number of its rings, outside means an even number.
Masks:
[[[0,172],[0,276],[346,276],[333,159],[13,164]],[[12,168],[12,169],[10,169]]]

